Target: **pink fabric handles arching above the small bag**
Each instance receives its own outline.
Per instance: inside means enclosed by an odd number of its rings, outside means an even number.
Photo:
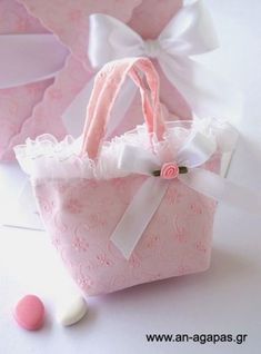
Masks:
[[[140,73],[144,73],[149,90]],[[159,100],[159,77],[152,62],[147,58],[111,61],[98,72],[87,108],[82,155],[88,155],[91,159],[99,155],[112,107],[127,75],[140,89],[148,132],[154,134],[160,140],[165,131]]]

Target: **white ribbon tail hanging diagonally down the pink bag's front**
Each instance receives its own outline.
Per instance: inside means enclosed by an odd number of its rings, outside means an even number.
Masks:
[[[111,235],[112,243],[129,259],[135,245],[160,206],[168,181],[149,177],[140,187]]]

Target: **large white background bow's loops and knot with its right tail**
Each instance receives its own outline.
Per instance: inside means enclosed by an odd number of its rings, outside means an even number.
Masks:
[[[93,67],[124,57],[154,58],[198,117],[231,118],[239,115],[238,95],[191,59],[215,48],[215,31],[202,0],[184,6],[154,40],[143,40],[110,16],[90,16],[89,59]]]

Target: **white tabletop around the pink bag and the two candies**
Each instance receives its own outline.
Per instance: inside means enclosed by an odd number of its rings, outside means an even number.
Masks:
[[[261,191],[261,1],[208,0],[222,49],[211,55],[217,71],[242,88],[242,134],[231,180]],[[208,59],[207,59],[208,61]],[[12,167],[13,168],[13,167]],[[1,205],[8,200],[0,200]],[[90,298],[89,315],[63,328],[54,308],[72,288],[48,235],[0,228],[0,353],[260,353],[261,217],[220,206],[207,273]],[[16,302],[39,294],[47,307],[42,331],[22,331]],[[248,334],[243,344],[148,343],[147,333]]]

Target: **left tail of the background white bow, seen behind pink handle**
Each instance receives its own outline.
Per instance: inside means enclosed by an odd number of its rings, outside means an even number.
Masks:
[[[84,126],[86,120],[86,107],[87,102],[90,99],[92,87],[94,82],[94,76],[88,81],[83,89],[77,95],[71,105],[66,109],[62,115],[63,125],[67,128],[68,134],[78,138],[82,134],[82,127]],[[137,87],[132,80],[128,79],[119,96],[116,100],[116,105],[112,109],[112,119],[108,126],[106,138],[112,136],[116,128],[121,124],[124,118],[128,109],[130,108],[131,102],[134,99],[137,94]]]

